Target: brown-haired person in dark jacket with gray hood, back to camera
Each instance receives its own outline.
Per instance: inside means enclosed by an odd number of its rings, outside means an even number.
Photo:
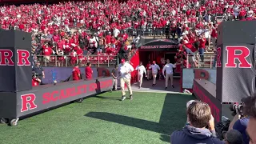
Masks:
[[[224,144],[216,138],[214,118],[205,102],[192,102],[186,110],[189,125],[170,136],[171,144]],[[208,127],[208,128],[206,128]]]

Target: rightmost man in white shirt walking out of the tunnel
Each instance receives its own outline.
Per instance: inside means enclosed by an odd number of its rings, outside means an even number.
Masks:
[[[168,87],[168,82],[169,82],[169,78],[170,78],[170,84],[171,86],[174,88],[174,68],[176,67],[175,64],[170,63],[169,59],[166,59],[166,65],[163,67],[162,69],[162,75],[166,78],[166,89]],[[166,74],[165,74],[166,72]]]

